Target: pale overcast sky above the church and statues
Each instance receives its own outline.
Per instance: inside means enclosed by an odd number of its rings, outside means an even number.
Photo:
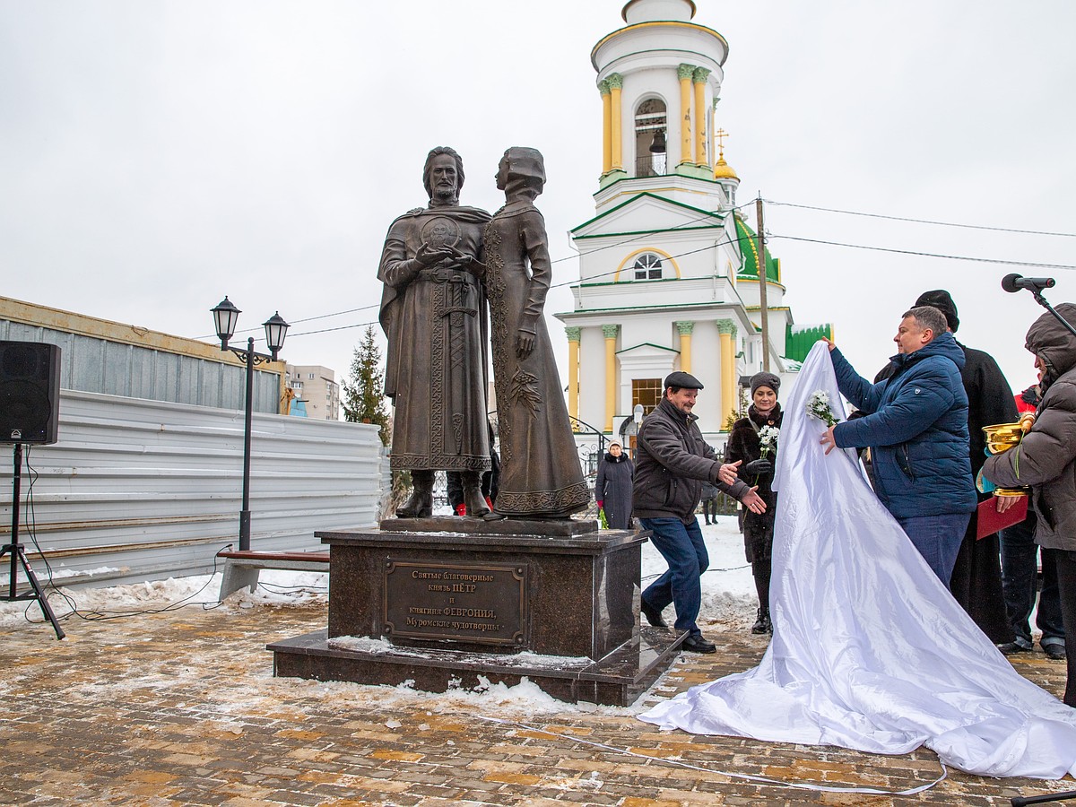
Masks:
[[[377,318],[387,226],[426,201],[426,152],[459,151],[463,203],[493,211],[500,154],[528,145],[566,258],[547,313],[570,310],[566,233],[594,214],[601,167],[590,53],[622,5],[0,0],[0,294],[187,337],[211,334],[227,294],[240,328],[279,310],[284,357],[340,379],[363,331],[349,326]],[[1071,0],[697,6],[730,43],[716,126],[738,201],[1076,232]],[[958,338],[1019,391],[1043,309],[1001,278],[1056,277],[1048,299],[1076,300],[1072,237],[778,204],[766,228],[795,321],[832,322],[865,376],[894,352],[901,313],[940,287]],[[550,330],[563,367],[551,316]]]

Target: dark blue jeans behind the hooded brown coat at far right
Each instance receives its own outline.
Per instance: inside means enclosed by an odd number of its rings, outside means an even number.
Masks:
[[[1016,643],[1031,650],[1031,609],[1035,605],[1038,567],[1038,544],[1035,543],[1035,514],[1001,533],[1002,587],[1005,610],[1016,634]],[[1051,550],[1043,550],[1043,591],[1038,593],[1035,624],[1043,632],[1040,645],[1064,645],[1065,628],[1061,624],[1061,596],[1058,592],[1058,569]]]

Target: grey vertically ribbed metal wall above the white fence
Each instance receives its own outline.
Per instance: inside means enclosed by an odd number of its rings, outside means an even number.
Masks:
[[[65,390],[243,408],[244,367],[3,318],[0,340],[58,344],[60,386]],[[236,346],[245,348],[245,340],[237,341]],[[280,373],[254,371],[255,412],[279,412],[280,394]]]

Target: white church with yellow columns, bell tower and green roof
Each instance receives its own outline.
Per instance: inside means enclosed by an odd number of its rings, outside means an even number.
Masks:
[[[570,232],[574,309],[556,317],[568,336],[568,411],[613,439],[627,440],[637,408],[653,409],[663,379],[685,370],[706,387],[695,407],[704,435],[723,444],[764,351],[769,371],[791,382],[832,336],[830,325],[794,324],[780,261],[766,251],[763,345],[758,240],[714,131],[728,44],[692,22],[695,11],[692,0],[629,0],[625,26],[591,53],[601,175],[594,216]]]

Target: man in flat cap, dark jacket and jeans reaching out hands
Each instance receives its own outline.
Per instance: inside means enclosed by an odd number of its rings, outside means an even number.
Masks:
[[[698,419],[691,413],[702,388],[691,373],[674,372],[665,379],[665,396],[639,427],[633,486],[635,514],[669,565],[642,592],[642,613],[651,625],[666,627],[662,610],[674,603],[675,627],[688,634],[683,649],[713,653],[717,647],[703,638],[695,622],[703,599],[700,577],[709,565],[695,518],[703,483],[717,485],[754,512],[763,512],[766,505],[736,478],[739,463],[722,465],[703,439]]]

